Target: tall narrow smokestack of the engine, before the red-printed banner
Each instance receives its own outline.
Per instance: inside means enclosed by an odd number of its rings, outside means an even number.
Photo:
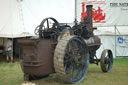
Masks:
[[[91,34],[93,34],[93,24],[92,24],[92,7],[93,5],[87,5],[87,20],[88,20],[88,24],[89,24],[89,31]]]

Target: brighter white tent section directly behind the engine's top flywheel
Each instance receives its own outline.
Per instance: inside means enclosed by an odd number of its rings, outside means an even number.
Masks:
[[[74,0],[22,0],[21,5],[24,26],[30,33],[47,17],[53,17],[60,23],[74,21]]]

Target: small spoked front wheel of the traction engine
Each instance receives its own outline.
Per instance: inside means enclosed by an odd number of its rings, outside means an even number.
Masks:
[[[103,72],[110,72],[113,65],[113,54],[110,49],[105,49],[102,52],[100,66]]]

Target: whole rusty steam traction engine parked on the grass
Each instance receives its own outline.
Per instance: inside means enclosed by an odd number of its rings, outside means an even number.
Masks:
[[[96,56],[101,42],[93,34],[92,5],[87,6],[87,17],[79,24],[71,27],[49,17],[37,26],[35,34],[39,37],[19,40],[25,80],[56,73],[65,82],[80,82],[86,76],[89,62],[100,62],[103,72],[111,71],[112,51],[105,49],[101,59]]]

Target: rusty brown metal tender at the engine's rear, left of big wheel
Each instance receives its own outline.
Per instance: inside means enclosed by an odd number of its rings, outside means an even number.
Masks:
[[[51,40],[21,39],[21,65],[25,74],[41,77],[54,73]]]

